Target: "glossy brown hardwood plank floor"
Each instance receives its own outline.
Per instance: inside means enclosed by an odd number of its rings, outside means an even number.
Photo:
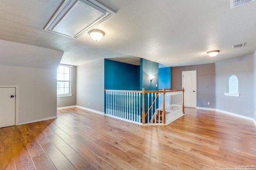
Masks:
[[[252,121],[185,108],[166,126],[142,126],[79,108],[0,128],[2,170],[216,170],[256,165]],[[248,167],[256,168],[256,167]]]

